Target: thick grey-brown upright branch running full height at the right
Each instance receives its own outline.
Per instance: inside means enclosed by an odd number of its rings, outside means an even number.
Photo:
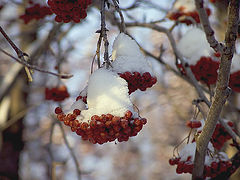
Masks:
[[[198,4],[196,0],[196,4]],[[232,0],[229,4],[228,28],[225,34],[225,44],[223,54],[221,57],[216,91],[214,100],[210,107],[205,126],[202,133],[197,138],[197,148],[194,160],[194,169],[192,179],[203,177],[205,154],[208,143],[212,137],[213,131],[216,127],[217,121],[220,118],[222,108],[230,95],[228,88],[228,81],[230,76],[231,61],[235,50],[235,41],[237,37],[237,26],[239,19],[239,0]]]

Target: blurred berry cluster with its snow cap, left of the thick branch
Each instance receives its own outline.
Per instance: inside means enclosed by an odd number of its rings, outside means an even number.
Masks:
[[[221,55],[212,50],[201,29],[193,28],[188,31],[180,39],[177,48],[186,58],[186,62],[198,81],[208,86],[216,83]]]

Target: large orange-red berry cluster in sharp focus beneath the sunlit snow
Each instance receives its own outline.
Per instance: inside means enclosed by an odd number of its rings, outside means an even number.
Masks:
[[[124,117],[112,114],[93,115],[88,122],[81,122],[77,117],[81,110],[74,109],[73,113],[64,114],[60,107],[55,109],[59,121],[71,127],[73,132],[81,136],[83,140],[89,140],[93,144],[103,144],[118,140],[127,141],[129,137],[136,136],[147,123],[145,118],[134,118],[131,111],[127,111]]]

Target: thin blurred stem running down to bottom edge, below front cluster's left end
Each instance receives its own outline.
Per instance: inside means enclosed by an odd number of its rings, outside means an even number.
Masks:
[[[68,142],[68,140],[67,140],[67,137],[66,137],[66,134],[65,134],[65,131],[64,131],[64,129],[63,129],[62,124],[61,124],[60,122],[58,122],[58,125],[59,125],[59,127],[60,127],[60,129],[61,129],[64,142],[65,142],[65,144],[66,144],[66,146],[67,146],[67,148],[68,148],[68,150],[69,150],[69,152],[70,152],[70,154],[71,154],[71,156],[72,156],[72,158],[73,158],[74,164],[75,164],[75,166],[76,166],[78,180],[81,180],[81,170],[80,170],[80,167],[79,167],[79,164],[78,164],[77,157],[76,157],[76,155],[74,154],[73,149],[72,149],[72,147],[70,146],[70,144],[69,144],[69,142]]]

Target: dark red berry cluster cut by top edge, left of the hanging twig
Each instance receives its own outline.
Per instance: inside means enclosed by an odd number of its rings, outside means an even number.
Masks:
[[[64,23],[79,23],[86,18],[86,10],[91,3],[91,0],[48,0],[52,12],[57,15],[55,21]]]

